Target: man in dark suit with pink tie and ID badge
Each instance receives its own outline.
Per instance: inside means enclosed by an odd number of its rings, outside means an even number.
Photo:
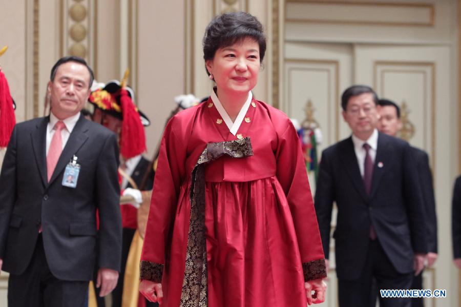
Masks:
[[[118,146],[114,133],[80,116],[92,80],[85,60],[59,59],[48,83],[50,116],[13,130],[0,176],[0,267],[10,273],[9,306],[82,306],[96,254],[101,295],[117,283]],[[75,185],[66,174],[74,174]]]

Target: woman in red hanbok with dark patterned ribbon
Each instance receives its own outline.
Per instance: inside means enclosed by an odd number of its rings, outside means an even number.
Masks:
[[[262,25],[243,12],[217,16],[203,45],[216,88],[165,128],[140,291],[169,307],[322,302],[325,260],[298,135],[250,91]]]

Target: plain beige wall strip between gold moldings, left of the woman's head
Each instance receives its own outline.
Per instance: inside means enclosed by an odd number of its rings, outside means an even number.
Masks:
[[[146,129],[152,156],[165,120],[184,93],[184,1],[140,1],[138,106],[151,119]]]

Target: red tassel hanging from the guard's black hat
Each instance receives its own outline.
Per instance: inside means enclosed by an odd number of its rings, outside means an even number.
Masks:
[[[120,104],[123,114],[120,153],[125,159],[129,159],[146,150],[145,133],[139,113],[124,88],[120,89]]]

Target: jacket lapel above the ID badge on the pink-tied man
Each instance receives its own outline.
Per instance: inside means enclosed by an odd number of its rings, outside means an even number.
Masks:
[[[85,143],[88,139],[88,135],[86,132],[88,131],[88,122],[85,117],[80,115],[77,123],[75,124],[72,133],[67,140],[66,146],[62,150],[61,155],[59,156],[59,160],[56,164],[56,168],[54,169],[53,175],[51,176],[49,184],[51,184],[56,177],[61,173],[62,170],[66,167],[66,165],[70,162],[73,155],[78,151],[78,149]],[[78,160],[77,160],[78,163]]]

